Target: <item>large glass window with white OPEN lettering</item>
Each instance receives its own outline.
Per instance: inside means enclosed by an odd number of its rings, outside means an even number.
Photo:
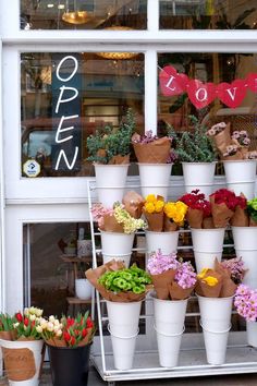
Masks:
[[[86,138],[118,126],[128,108],[144,131],[144,56],[22,53],[23,177],[93,176]]]

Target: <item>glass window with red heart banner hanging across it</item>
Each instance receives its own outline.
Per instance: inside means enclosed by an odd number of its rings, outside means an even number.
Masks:
[[[188,116],[211,126],[231,122],[256,148],[256,53],[159,53],[158,134],[189,131]],[[186,76],[185,76],[186,75]],[[178,168],[178,169],[176,169]],[[180,166],[172,172],[181,173]],[[218,165],[222,172],[222,166]]]

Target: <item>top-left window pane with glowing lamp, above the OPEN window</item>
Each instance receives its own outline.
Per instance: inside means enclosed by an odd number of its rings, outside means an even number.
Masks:
[[[21,29],[145,29],[147,0],[21,0]]]

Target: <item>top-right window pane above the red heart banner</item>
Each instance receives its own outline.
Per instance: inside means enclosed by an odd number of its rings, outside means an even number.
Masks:
[[[160,0],[160,29],[255,29],[255,0]]]

